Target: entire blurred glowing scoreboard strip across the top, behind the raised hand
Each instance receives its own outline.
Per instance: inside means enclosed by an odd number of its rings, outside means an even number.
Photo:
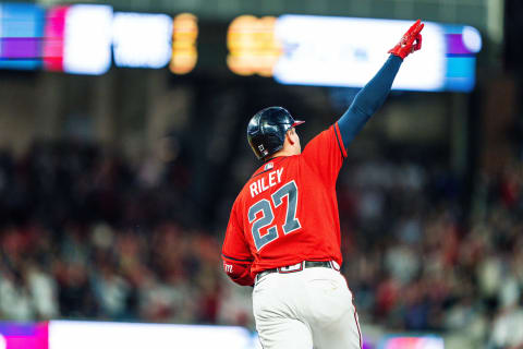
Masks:
[[[204,51],[206,38],[222,36],[226,48],[206,57],[211,71],[273,77],[281,84],[361,87],[386,59],[382,48],[396,44],[408,22],[245,14],[216,33],[191,13],[171,16],[118,12],[104,4],[0,3],[0,69],[100,75],[114,65],[167,68],[182,75],[198,69],[198,51]],[[367,35],[360,36],[361,31]],[[424,50],[410,58],[411,69],[398,74],[392,88],[470,92],[481,49],[482,36],[474,27],[427,22]]]

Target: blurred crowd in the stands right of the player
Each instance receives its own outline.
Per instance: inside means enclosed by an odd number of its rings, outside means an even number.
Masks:
[[[477,176],[472,201],[434,164],[349,167],[344,273],[361,316],[397,330],[458,330],[490,348],[523,345],[521,163]]]

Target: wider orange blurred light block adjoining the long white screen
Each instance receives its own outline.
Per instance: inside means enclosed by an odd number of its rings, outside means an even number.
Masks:
[[[281,55],[281,44],[275,35],[277,19],[241,15],[227,32],[229,55],[227,65],[239,75],[271,76]]]

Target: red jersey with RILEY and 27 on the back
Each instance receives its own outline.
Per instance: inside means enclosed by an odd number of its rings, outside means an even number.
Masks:
[[[341,265],[336,181],[344,157],[335,123],[302,154],[272,158],[254,172],[234,202],[222,248],[234,281],[252,285],[262,270],[302,261]]]

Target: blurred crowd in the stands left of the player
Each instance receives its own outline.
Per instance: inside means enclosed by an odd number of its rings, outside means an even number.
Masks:
[[[218,322],[220,241],[180,224],[186,181],[75,142],[1,154],[0,318]]]

